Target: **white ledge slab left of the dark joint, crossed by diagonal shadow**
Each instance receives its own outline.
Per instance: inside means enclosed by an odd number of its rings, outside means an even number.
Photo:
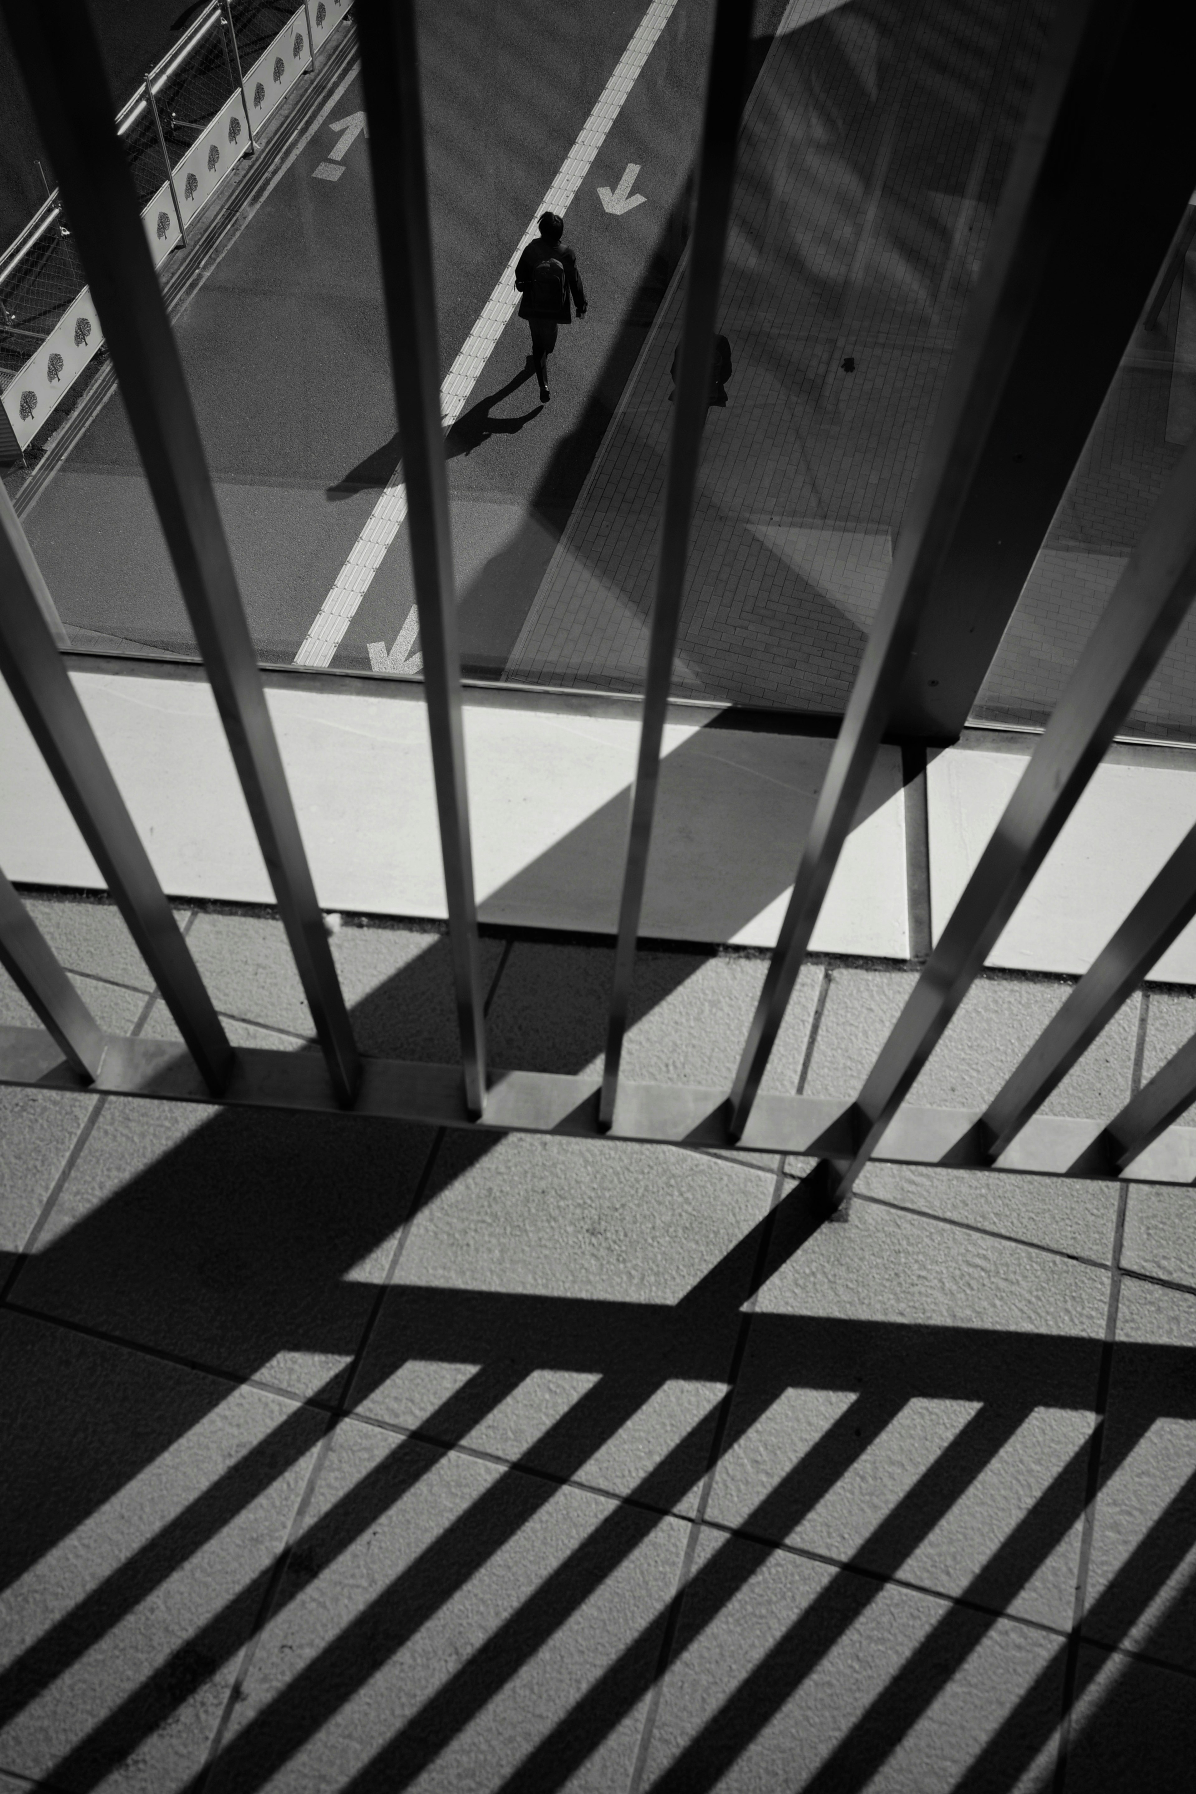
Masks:
[[[72,675],[170,897],[271,902],[206,684]],[[445,915],[421,703],[360,689],[269,691],[326,910]],[[705,712],[699,712],[705,719]],[[482,920],[613,933],[638,721],[466,705]],[[830,741],[671,723],[644,933],[771,947]],[[18,883],[102,888],[0,687],[0,865]],[[900,753],[886,748],[814,935],[823,953],[907,958]]]

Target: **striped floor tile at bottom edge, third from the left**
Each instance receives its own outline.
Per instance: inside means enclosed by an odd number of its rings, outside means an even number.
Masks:
[[[981,1756],[977,1785],[1040,1787],[1020,1737],[1058,1717],[1060,1643],[706,1532],[644,1787],[947,1794]]]

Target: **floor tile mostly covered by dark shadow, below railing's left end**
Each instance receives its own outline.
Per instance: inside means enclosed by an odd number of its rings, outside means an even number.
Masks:
[[[350,1116],[109,1098],[14,1299],[328,1394],[432,1143]]]

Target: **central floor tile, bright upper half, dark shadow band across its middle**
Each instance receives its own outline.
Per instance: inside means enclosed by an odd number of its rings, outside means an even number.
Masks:
[[[769,1200],[667,1146],[448,1136],[360,1412],[689,1511]]]

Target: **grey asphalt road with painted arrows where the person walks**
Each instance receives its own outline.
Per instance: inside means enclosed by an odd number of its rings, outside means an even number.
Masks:
[[[468,337],[647,0],[434,0],[420,7],[441,373]],[[780,0],[760,7],[762,27]],[[561,330],[552,402],[513,319],[448,438],[466,671],[502,669],[680,248],[710,0],[678,0],[567,215],[590,312]],[[764,41],[760,41],[760,48]],[[332,97],[332,95],[330,95]],[[368,145],[314,170],[360,111],[351,79],[178,321],[264,660],[290,662],[398,465]],[[646,203],[597,188],[638,163]],[[63,619],[188,651],[190,628],[118,398],[25,518]],[[368,667],[411,608],[405,531],[334,660]]]

